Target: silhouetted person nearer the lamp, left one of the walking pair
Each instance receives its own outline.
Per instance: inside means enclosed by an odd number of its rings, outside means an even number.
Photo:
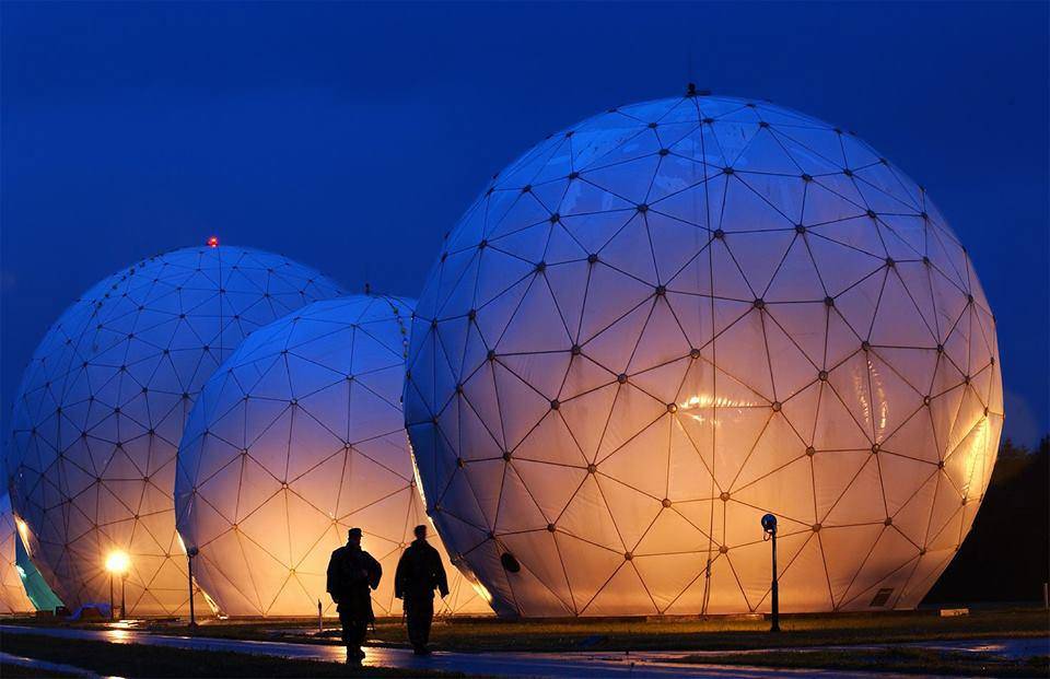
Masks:
[[[380,586],[381,577],[383,567],[380,562],[361,549],[361,529],[351,528],[347,534],[346,547],[331,552],[328,561],[328,594],[339,612],[348,663],[364,659],[361,644],[364,643],[369,623],[375,620],[371,589]]]

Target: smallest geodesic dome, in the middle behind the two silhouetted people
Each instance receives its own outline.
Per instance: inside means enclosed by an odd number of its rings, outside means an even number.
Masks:
[[[401,389],[415,303],[317,302],[249,337],[205,385],[178,452],[179,534],[197,582],[231,616],[315,616],[331,552],[360,527],[383,566],[377,616],[400,613],[394,572],[427,523]],[[491,613],[448,563],[439,612]]]

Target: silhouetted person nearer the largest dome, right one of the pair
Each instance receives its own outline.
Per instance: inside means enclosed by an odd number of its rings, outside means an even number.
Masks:
[[[434,619],[434,589],[448,596],[445,566],[438,550],[427,542],[427,526],[416,526],[416,540],[405,549],[394,574],[394,596],[405,602],[408,640],[416,655],[428,655],[430,623]]]

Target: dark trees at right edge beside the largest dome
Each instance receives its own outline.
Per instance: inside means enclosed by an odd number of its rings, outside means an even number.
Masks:
[[[1050,437],[1035,450],[1007,438],[973,529],[923,602],[1041,602],[1048,581]]]

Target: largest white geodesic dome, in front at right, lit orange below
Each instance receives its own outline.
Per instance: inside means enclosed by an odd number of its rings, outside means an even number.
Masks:
[[[995,324],[925,190],[854,134],[691,92],[500,173],[417,307],[428,508],[498,611],[911,608],[1003,420]]]

